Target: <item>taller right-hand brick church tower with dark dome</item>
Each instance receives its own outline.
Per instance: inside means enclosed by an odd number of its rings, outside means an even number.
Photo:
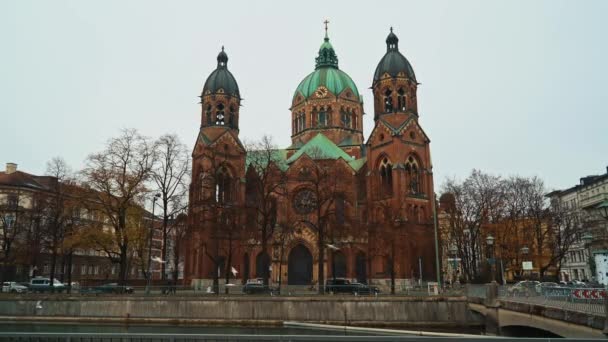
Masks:
[[[430,139],[418,122],[418,82],[391,28],[372,81],[374,128],[366,143],[370,219],[386,223],[401,245],[397,277],[434,273]],[[389,221],[386,208],[390,208]],[[396,235],[395,235],[396,234]],[[420,265],[420,266],[419,266]]]

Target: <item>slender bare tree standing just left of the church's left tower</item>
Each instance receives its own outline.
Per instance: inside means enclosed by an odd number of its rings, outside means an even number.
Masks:
[[[167,261],[167,242],[171,227],[169,219],[185,208],[184,199],[188,195],[190,156],[188,149],[175,134],[160,137],[155,144],[158,161],[152,169],[152,179],[160,193],[162,205],[161,259]],[[161,277],[166,278],[166,262],[161,266]]]

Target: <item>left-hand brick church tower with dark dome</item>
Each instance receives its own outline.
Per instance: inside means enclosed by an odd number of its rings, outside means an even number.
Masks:
[[[192,151],[187,273],[212,278],[226,227],[236,226],[244,200],[245,148],[239,140],[241,96],[222,47],[201,93],[201,125]],[[216,265],[217,264],[217,265]],[[210,276],[211,275],[211,276]]]

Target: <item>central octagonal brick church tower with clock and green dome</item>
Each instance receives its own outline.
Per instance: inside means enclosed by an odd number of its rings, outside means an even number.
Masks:
[[[315,70],[300,82],[292,98],[289,150],[297,150],[322,133],[348,155],[360,158],[363,100],[355,82],[338,67],[325,24]]]

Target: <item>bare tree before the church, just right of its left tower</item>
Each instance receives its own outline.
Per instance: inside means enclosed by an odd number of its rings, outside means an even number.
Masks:
[[[281,170],[282,158],[270,136],[247,144],[246,210],[255,225],[253,238],[260,241],[262,253],[269,258],[268,241],[272,238],[277,221],[277,202],[287,194],[287,177]],[[269,272],[263,270],[264,285],[268,285]]]

